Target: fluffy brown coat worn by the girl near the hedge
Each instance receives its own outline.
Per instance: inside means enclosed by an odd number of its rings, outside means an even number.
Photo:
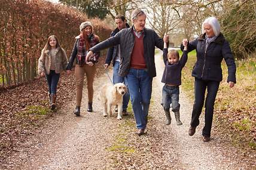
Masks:
[[[63,70],[66,70],[66,66],[68,66],[68,58],[66,57],[66,52],[63,48],[57,48],[55,52],[55,72],[61,73]],[[38,74],[40,75],[42,72],[47,75],[50,74],[50,66],[51,66],[51,56],[49,50],[42,50],[41,56],[38,59]]]

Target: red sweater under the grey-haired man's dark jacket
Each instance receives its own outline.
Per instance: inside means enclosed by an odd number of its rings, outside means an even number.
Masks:
[[[142,34],[139,38],[135,35],[134,47],[132,50],[132,54],[130,56],[130,67],[134,69],[145,69],[147,68],[145,59],[144,59],[144,45],[143,45],[143,37]]]

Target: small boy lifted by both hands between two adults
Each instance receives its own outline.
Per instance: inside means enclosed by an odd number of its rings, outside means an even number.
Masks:
[[[187,62],[187,39],[182,41],[184,45],[184,51],[179,60],[179,52],[177,50],[167,50],[167,42],[164,42],[163,49],[163,61],[165,64],[163,78],[161,82],[165,85],[162,91],[162,103],[165,115],[166,115],[166,125],[170,125],[170,104],[172,104],[172,112],[175,114],[175,119],[177,125],[182,125],[181,120],[179,120],[179,85],[181,85],[181,70]]]

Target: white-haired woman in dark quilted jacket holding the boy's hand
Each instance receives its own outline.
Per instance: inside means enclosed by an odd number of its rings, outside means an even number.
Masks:
[[[223,79],[221,61],[225,59],[228,67],[227,82],[230,88],[236,83],[236,64],[230,46],[220,32],[220,23],[217,18],[209,17],[203,21],[202,35],[188,44],[188,52],[196,49],[197,61],[193,67],[194,80],[194,106],[188,134],[193,136],[196,126],[199,125],[199,116],[205,101],[205,126],[203,128],[203,141],[211,140],[212,117],[214,114],[214,101],[220,82]],[[184,45],[181,45],[183,50]]]

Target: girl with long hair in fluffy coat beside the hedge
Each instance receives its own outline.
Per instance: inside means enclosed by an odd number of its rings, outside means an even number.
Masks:
[[[51,110],[56,107],[56,91],[60,73],[66,70],[67,65],[66,52],[60,47],[57,37],[49,36],[38,60],[38,74],[46,77]]]

